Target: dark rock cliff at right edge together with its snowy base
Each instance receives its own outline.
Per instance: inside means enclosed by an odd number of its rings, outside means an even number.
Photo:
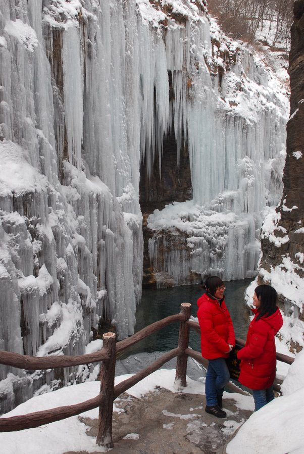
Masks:
[[[263,256],[258,281],[277,289],[280,307],[289,316],[286,324],[291,338],[287,343],[290,342],[290,350],[299,351],[304,345],[304,0],[294,3],[293,13],[284,189],[275,217],[262,227]]]

